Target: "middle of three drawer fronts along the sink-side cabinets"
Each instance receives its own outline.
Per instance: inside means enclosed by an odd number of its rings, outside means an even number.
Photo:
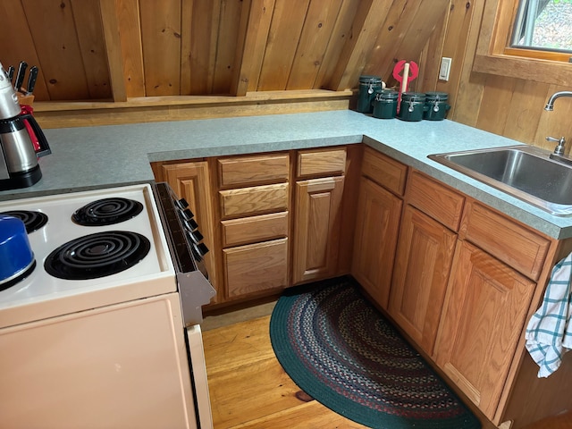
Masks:
[[[454,190],[419,172],[412,172],[408,178],[406,199],[450,230],[458,231],[465,198]]]

